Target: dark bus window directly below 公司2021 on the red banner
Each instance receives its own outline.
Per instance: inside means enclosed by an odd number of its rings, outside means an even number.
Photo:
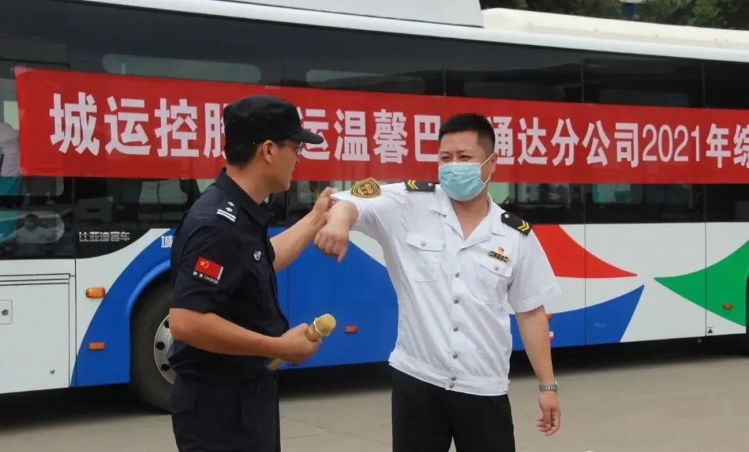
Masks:
[[[690,184],[595,184],[586,207],[588,223],[685,223],[704,220],[703,186]]]

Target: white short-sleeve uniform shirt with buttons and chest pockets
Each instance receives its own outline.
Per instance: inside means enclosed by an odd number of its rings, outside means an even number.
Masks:
[[[511,311],[531,311],[560,293],[533,230],[503,222],[490,201],[488,216],[468,239],[447,195],[380,186],[380,195],[351,201],[353,230],[377,240],[398,295],[398,338],[392,367],[452,391],[506,394],[512,352]]]

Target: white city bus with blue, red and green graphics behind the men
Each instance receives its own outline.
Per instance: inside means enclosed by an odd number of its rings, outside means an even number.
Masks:
[[[478,1],[314,4],[0,4],[0,393],[130,383],[166,409],[171,234],[220,168],[220,106],[257,92],[327,138],[269,198],[273,233],[329,184],[436,179],[440,120],[482,112],[492,197],[533,224],[560,278],[553,346],[747,343],[747,33]],[[392,349],[381,251],[351,240],[341,264],[310,247],[279,273],[292,324],[339,320],[302,367]]]

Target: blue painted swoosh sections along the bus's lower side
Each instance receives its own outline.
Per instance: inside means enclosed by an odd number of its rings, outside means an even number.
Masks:
[[[282,229],[270,231],[273,236]],[[169,231],[168,233],[172,233]],[[71,385],[104,385],[130,381],[130,313],[142,290],[169,269],[169,248],[161,239],[148,245],[103,299],[82,342]],[[344,263],[307,247],[279,272],[279,304],[291,326],[309,323],[330,312],[339,327],[312,359],[300,367],[386,361],[397,335],[395,290],[384,266],[350,244]],[[133,290],[134,288],[134,290]],[[554,314],[552,346],[617,343],[622,340],[644,287],[589,308]],[[345,326],[358,331],[346,334]],[[515,316],[511,316],[513,349],[524,349]],[[89,342],[106,342],[90,351]]]

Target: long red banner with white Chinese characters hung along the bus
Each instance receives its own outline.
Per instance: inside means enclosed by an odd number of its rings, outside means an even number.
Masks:
[[[440,121],[494,124],[493,180],[748,183],[749,112],[279,88],[50,70],[16,73],[27,175],[213,178],[222,109],[270,94],[324,135],[297,180],[437,178]]]

